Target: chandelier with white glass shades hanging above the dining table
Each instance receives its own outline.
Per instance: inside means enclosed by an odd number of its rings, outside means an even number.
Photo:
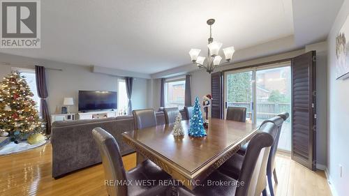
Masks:
[[[218,52],[223,44],[214,41],[214,38],[212,38],[211,26],[212,24],[214,24],[214,19],[207,20],[207,24],[209,25],[209,44],[207,45],[209,49],[207,62],[205,63],[205,56],[199,56],[201,52],[200,49],[191,49],[189,51],[189,55],[191,55],[191,61],[194,63],[194,65],[198,66],[199,68],[205,68],[208,73],[211,73],[212,71],[214,71],[214,68],[216,68],[216,66],[221,63],[222,57],[218,55]],[[234,52],[235,50],[232,46],[223,49],[226,63],[230,62],[230,60],[232,59],[232,54],[234,54]]]

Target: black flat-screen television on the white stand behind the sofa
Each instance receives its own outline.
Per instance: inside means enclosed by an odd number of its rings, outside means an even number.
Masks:
[[[79,112],[117,109],[117,92],[79,91]]]

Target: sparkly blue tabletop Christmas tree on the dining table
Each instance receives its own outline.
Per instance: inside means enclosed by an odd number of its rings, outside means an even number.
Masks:
[[[207,134],[204,126],[202,125],[203,123],[204,123],[204,120],[202,119],[199,98],[196,97],[193,113],[191,114],[190,128],[189,128],[188,134],[193,137],[206,136]]]

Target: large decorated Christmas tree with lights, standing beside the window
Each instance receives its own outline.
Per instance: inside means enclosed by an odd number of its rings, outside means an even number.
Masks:
[[[0,83],[0,130],[13,140],[23,140],[33,133],[43,133],[34,94],[20,73],[11,73]]]

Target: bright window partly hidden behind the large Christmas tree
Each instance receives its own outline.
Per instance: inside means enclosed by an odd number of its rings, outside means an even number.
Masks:
[[[41,116],[40,111],[40,98],[38,96],[38,91],[36,89],[36,76],[35,76],[35,70],[32,69],[21,69],[21,68],[13,68],[13,71],[18,71],[20,75],[24,76],[25,80],[27,81],[29,88],[31,92],[33,92],[34,96],[32,99],[36,103],[36,109],[39,111],[39,115]]]

